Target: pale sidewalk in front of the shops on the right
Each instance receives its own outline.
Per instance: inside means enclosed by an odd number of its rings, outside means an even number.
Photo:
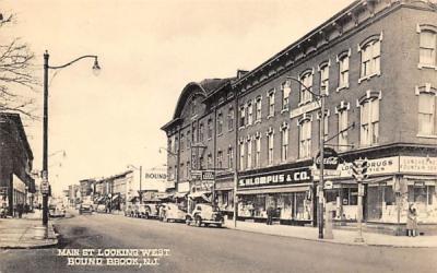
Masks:
[[[404,248],[437,248],[437,236],[391,236],[383,234],[363,233],[364,244],[354,242],[357,235],[356,232],[334,229],[334,239],[318,239],[317,227],[304,226],[286,226],[286,225],[265,225],[261,223],[237,222],[234,227],[232,219],[226,219],[225,227],[250,233],[259,233],[267,235],[276,235],[299,238],[305,240],[315,240],[321,242],[343,244],[343,245],[361,245],[361,246],[389,246]]]

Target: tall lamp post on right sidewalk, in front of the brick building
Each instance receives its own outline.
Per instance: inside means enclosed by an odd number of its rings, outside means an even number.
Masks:
[[[305,91],[309,92],[312,96],[317,97],[320,100],[320,127],[319,127],[319,133],[320,133],[320,142],[319,142],[319,149],[320,149],[320,181],[319,181],[319,187],[318,187],[318,195],[319,195],[319,209],[318,209],[318,221],[317,225],[319,228],[319,239],[323,239],[323,203],[324,203],[324,98],[326,98],[326,93],[322,94],[322,87],[326,87],[324,85],[320,86],[320,94],[316,94],[312,91],[310,91],[299,79],[293,78],[293,76],[287,76],[286,79],[295,81],[302,85]]]

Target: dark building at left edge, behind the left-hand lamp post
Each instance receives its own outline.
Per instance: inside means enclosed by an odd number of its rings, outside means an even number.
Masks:
[[[35,193],[34,157],[20,115],[0,114],[0,205],[12,216],[17,204],[32,207]]]

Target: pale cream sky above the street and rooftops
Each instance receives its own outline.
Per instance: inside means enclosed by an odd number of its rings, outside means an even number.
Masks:
[[[49,73],[49,181],[55,192],[85,178],[107,177],[128,165],[163,167],[160,128],[189,82],[251,70],[352,0],[0,0],[16,23],[0,44],[21,37],[50,66],[83,55],[92,59]],[[43,116],[43,86],[34,96]],[[43,122],[24,120],[42,169]],[[57,153],[64,151],[63,153]]]

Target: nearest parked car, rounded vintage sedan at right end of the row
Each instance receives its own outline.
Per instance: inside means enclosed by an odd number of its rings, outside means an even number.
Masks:
[[[202,225],[215,225],[222,227],[224,224],[223,213],[217,206],[209,203],[197,204],[194,210],[186,216],[187,225],[194,224],[200,227]]]

